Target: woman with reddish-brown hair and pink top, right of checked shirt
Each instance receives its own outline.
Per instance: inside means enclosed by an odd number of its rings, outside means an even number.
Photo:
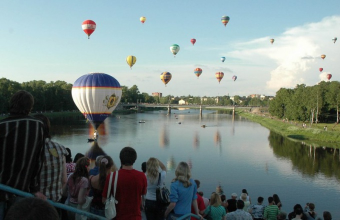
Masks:
[[[71,173],[67,179],[67,190],[68,190],[68,203],[67,205],[72,207],[77,207],[78,204],[83,204],[86,202],[86,196],[89,192],[89,181],[88,181],[88,171],[89,171],[89,158],[82,157],[78,159],[75,164],[75,170]],[[75,213],[67,211],[68,219],[74,220]]]

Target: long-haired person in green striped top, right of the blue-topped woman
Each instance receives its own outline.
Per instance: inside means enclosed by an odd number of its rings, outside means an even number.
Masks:
[[[204,210],[203,217],[208,215],[211,220],[225,220],[225,208],[221,204],[222,201],[219,194],[212,192],[210,204]]]

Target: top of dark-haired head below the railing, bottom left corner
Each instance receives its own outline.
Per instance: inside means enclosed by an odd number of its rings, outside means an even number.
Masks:
[[[5,220],[50,219],[58,220],[56,209],[46,200],[37,197],[22,198],[7,211]]]

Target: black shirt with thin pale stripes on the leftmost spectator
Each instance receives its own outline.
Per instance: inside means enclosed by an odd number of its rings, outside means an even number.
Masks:
[[[0,120],[0,183],[35,193],[43,159],[43,123],[28,115]],[[11,195],[0,191],[0,201]]]

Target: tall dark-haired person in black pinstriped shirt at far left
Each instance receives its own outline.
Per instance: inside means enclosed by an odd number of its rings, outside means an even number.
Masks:
[[[9,101],[9,116],[0,120],[0,183],[46,199],[38,187],[44,157],[44,127],[40,119],[28,115],[33,104],[29,92],[17,91]],[[0,190],[0,220],[6,205],[9,207],[21,198]]]

